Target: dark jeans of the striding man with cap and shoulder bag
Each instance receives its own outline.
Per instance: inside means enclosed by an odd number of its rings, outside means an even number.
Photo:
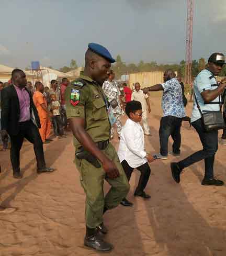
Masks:
[[[205,131],[201,118],[191,123],[198,132],[203,149],[178,162],[179,168],[184,169],[191,164],[205,159],[205,178],[213,179],[214,156],[218,150],[218,130]]]

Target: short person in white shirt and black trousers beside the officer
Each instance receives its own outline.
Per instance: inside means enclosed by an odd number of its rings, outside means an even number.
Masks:
[[[121,165],[127,175],[128,181],[134,168],[141,172],[138,186],[134,196],[140,196],[149,199],[150,195],[144,192],[148,183],[151,169],[148,162],[154,161],[151,154],[144,149],[144,132],[139,124],[142,119],[142,106],[138,101],[131,101],[126,104],[126,114],[129,117],[125,126],[122,127],[118,156]],[[121,205],[132,206],[126,198],[123,198]]]

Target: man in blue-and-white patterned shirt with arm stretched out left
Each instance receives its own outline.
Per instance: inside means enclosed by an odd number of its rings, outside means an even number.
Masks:
[[[167,159],[168,137],[173,138],[173,152],[176,157],[180,155],[180,127],[182,119],[185,117],[185,107],[183,103],[182,87],[175,78],[172,70],[167,70],[163,76],[164,83],[148,87],[148,91],[163,91],[162,108],[163,117],[160,121],[160,154],[159,159]]]

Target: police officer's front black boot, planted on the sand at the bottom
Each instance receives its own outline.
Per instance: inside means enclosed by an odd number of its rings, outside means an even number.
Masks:
[[[113,249],[113,246],[110,243],[105,242],[98,236],[98,231],[96,228],[88,227],[86,227],[84,246],[96,249],[97,251],[110,251]]]

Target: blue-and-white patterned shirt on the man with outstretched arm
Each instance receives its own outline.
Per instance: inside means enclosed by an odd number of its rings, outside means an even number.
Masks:
[[[176,78],[162,84],[162,109],[163,116],[185,117],[182,87]]]

